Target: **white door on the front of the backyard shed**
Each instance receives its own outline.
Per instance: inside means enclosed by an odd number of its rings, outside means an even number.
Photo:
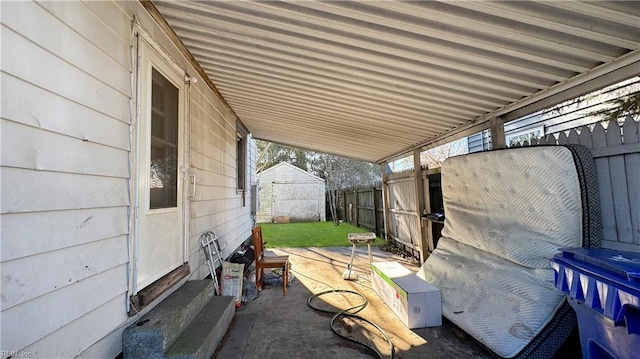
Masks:
[[[320,201],[324,194],[316,182],[289,182],[273,184],[273,218],[289,217],[292,222],[319,221]]]

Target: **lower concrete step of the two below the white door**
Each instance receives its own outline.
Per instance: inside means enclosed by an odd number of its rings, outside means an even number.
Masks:
[[[213,297],[165,353],[172,359],[210,359],[235,315],[234,297]]]

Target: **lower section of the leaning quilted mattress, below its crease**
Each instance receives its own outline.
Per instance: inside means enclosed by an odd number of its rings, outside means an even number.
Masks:
[[[440,289],[443,316],[505,358],[517,355],[564,301],[553,269],[514,265],[446,237],[418,276]]]

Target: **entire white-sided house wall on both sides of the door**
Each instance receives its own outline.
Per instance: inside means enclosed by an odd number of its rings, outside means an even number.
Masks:
[[[3,357],[115,357],[122,331],[137,319],[127,315],[132,24],[185,72],[197,72],[139,2],[0,6],[0,348]],[[236,189],[235,116],[203,79],[189,93],[188,172],[196,174],[197,194],[188,205],[186,247],[193,280],[208,275],[200,234],[216,231],[228,256],[249,238],[253,222],[250,192]],[[248,143],[247,188],[256,180],[255,144]]]

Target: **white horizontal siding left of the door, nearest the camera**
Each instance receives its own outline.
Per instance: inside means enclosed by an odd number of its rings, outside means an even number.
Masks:
[[[2,4],[2,347],[34,357],[81,354],[128,320],[130,59],[74,15],[129,48],[81,3]]]

